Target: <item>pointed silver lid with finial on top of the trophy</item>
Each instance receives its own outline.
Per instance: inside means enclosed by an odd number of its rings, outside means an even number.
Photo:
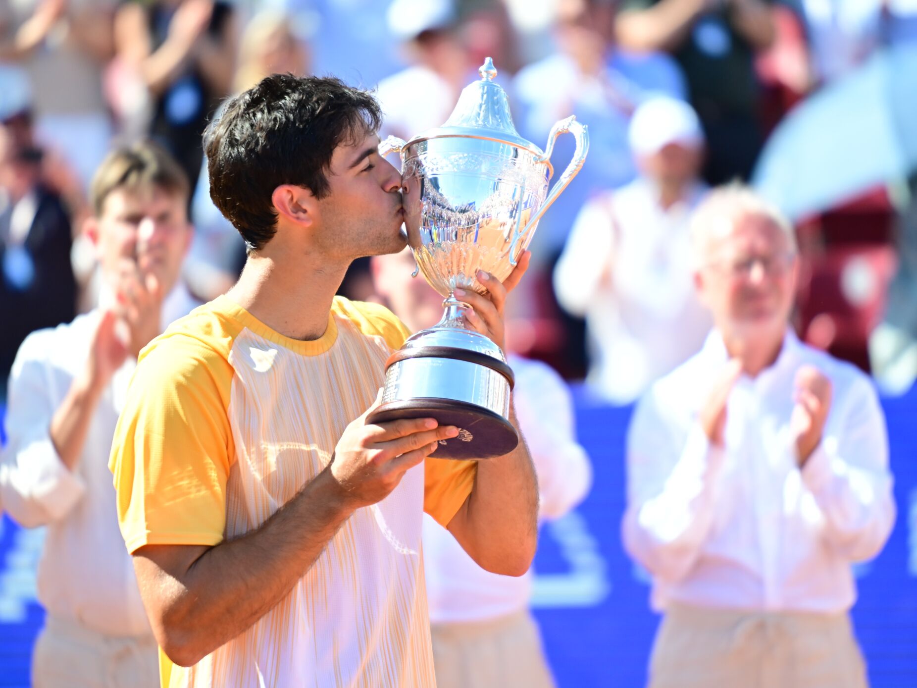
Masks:
[[[411,142],[441,137],[494,139],[540,154],[541,150],[516,131],[509,98],[503,87],[493,81],[497,70],[491,58],[484,60],[478,73],[481,79],[465,86],[446,123],[415,137]]]

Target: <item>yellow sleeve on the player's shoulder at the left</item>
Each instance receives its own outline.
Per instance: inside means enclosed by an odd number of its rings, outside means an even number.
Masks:
[[[167,334],[143,351],[108,463],[131,553],[223,539],[235,456],[226,412],[231,384],[229,362],[200,339]]]

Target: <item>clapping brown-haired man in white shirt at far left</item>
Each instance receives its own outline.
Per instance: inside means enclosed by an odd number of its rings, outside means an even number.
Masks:
[[[105,279],[101,303],[29,335],[13,365],[0,505],[24,527],[48,527],[37,688],[159,684],[108,454],[139,351],[169,322],[165,314],[194,305],[178,283],[192,237],[188,193],[181,168],[158,147],[110,153],[94,176],[94,216],[84,227]]]

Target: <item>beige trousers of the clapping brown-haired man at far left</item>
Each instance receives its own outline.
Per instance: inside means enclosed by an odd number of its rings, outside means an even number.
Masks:
[[[108,638],[48,616],[32,654],[33,688],[158,688],[152,637]]]

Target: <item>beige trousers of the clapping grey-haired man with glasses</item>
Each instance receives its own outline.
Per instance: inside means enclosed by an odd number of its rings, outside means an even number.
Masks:
[[[673,605],[657,631],[649,688],[867,688],[846,614]]]

